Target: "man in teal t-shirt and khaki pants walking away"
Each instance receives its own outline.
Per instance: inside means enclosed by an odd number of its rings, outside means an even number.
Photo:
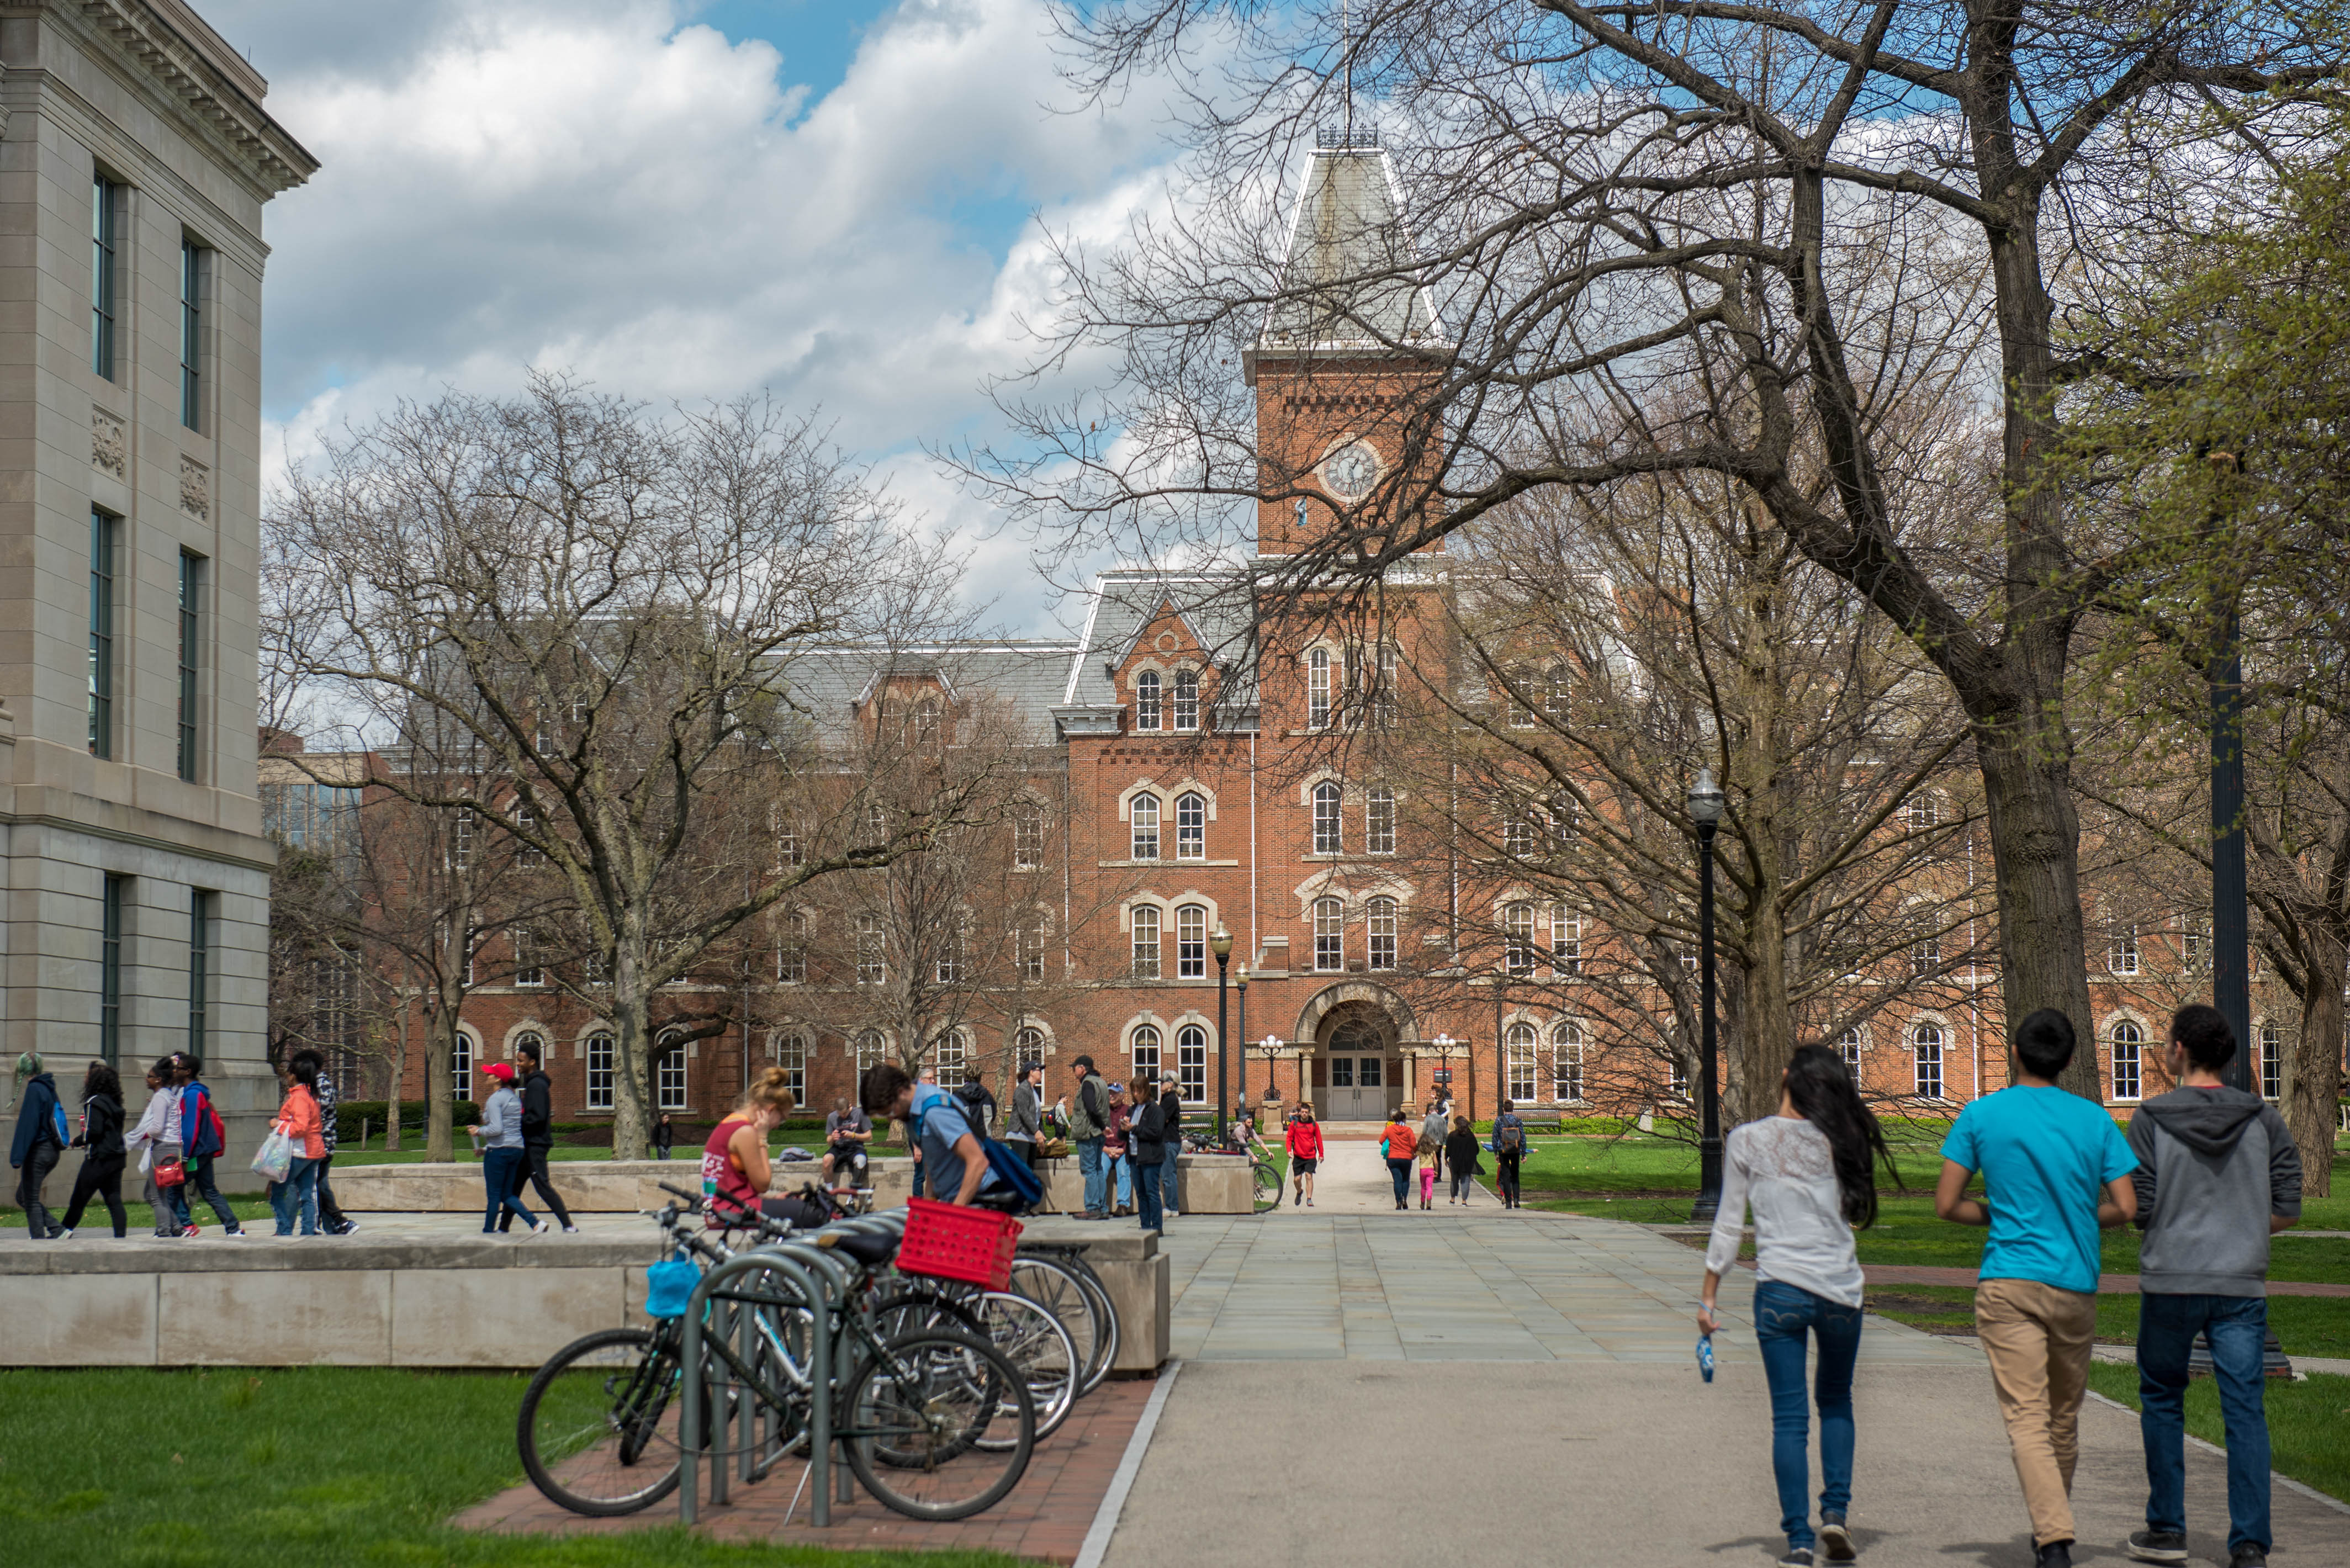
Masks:
[[[2033,1516],[2037,1568],[2073,1568],[2073,1462],[2096,1342],[2099,1229],[2138,1208],[2138,1157],[2103,1105],[2056,1088],[2073,1020],[2040,1009],[2016,1027],[2016,1084],[1974,1100],[1941,1145],[1934,1213],[1988,1225],[1974,1326]],[[1983,1199],[1967,1180],[1983,1173]]]

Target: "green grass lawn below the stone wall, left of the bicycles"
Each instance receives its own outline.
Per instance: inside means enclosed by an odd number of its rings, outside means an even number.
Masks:
[[[444,1519],[522,1479],[522,1375],[0,1371],[0,1537],[45,1568],[1010,1568],[989,1552],[494,1537]],[[658,1512],[651,1516],[660,1516]],[[667,1505],[674,1519],[674,1502]]]

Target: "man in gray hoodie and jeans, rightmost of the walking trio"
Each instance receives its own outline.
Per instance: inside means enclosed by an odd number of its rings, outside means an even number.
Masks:
[[[2268,1415],[2261,1349],[2268,1338],[2268,1237],[2301,1220],[2301,1150],[2261,1095],[2228,1088],[2237,1051],[2218,1009],[2171,1018],[2178,1084],[2129,1117],[2138,1157],[2138,1434],[2146,1441],[2141,1563],[2183,1563],[2188,1349],[2211,1340],[2211,1373],[2228,1427],[2228,1563],[2268,1566]]]

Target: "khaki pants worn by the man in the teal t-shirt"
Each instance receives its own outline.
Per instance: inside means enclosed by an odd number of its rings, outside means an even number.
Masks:
[[[1986,1279],[1974,1288],[1974,1328],[2000,1392],[2016,1481],[2033,1514],[2033,1544],[2073,1540],[2073,1462],[2080,1458],[2096,1295],[2037,1279]]]

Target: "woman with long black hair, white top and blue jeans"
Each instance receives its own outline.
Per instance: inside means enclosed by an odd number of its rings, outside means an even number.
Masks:
[[[1739,1258],[1746,1206],[1755,1213],[1755,1345],[1770,1382],[1772,1472],[1779,1479],[1781,1568],[1812,1568],[1812,1544],[1849,1563],[1852,1530],[1852,1361],[1861,1352],[1861,1260],[1852,1232],[1878,1218],[1875,1166],[1894,1185],[1894,1157],[1835,1051],[1800,1046],[1779,1079],[1779,1114],[1732,1128],[1723,1150],[1723,1206],[1706,1246],[1704,1309],[1718,1326],[1716,1293]],[[1819,1535],[1807,1497],[1812,1467],[1805,1408],[1805,1335],[1819,1340]]]

